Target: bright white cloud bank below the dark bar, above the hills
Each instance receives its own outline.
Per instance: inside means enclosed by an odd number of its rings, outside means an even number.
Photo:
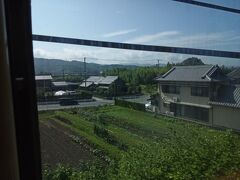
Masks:
[[[177,62],[183,60],[187,55],[146,52],[121,49],[108,49],[96,47],[73,47],[63,48],[61,51],[51,51],[49,49],[34,49],[34,57],[63,59],[63,60],[79,60],[87,58],[87,62],[99,64],[156,64],[160,59],[160,63]],[[189,56],[190,57],[190,56]]]

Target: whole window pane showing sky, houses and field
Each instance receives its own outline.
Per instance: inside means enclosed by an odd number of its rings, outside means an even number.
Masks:
[[[32,20],[45,179],[238,178],[239,13],[32,0]]]

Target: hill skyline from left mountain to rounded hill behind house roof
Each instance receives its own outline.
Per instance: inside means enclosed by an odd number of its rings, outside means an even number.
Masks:
[[[160,66],[188,66],[188,65],[204,65],[201,59],[196,57],[187,58],[180,63],[167,63],[160,64]],[[83,75],[84,74],[84,62],[83,61],[66,61],[62,59],[45,59],[45,58],[34,58],[35,74],[52,74],[54,76],[59,76],[64,74],[71,75]],[[140,67],[156,67],[155,65],[128,65],[128,64],[97,64],[97,63],[86,63],[87,75],[100,75],[105,70],[115,69],[115,68],[125,68],[125,69],[136,69]],[[232,70],[223,66],[226,71]],[[222,68],[222,69],[223,69]]]

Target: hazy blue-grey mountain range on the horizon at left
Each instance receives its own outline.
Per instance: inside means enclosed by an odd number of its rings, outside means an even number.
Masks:
[[[64,61],[61,59],[44,59],[35,58],[35,74],[52,74],[62,75],[65,74],[83,74],[84,63],[82,61]],[[135,65],[101,65],[96,63],[86,63],[88,75],[99,75],[101,71],[112,68],[136,68]]]

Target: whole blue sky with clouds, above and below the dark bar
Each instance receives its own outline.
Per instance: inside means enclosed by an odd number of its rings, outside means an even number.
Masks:
[[[240,9],[236,0],[202,0]],[[140,44],[240,51],[240,15],[171,0],[32,0],[34,34]],[[34,42],[36,57],[154,64],[186,55]],[[201,57],[212,64],[240,60]]]

